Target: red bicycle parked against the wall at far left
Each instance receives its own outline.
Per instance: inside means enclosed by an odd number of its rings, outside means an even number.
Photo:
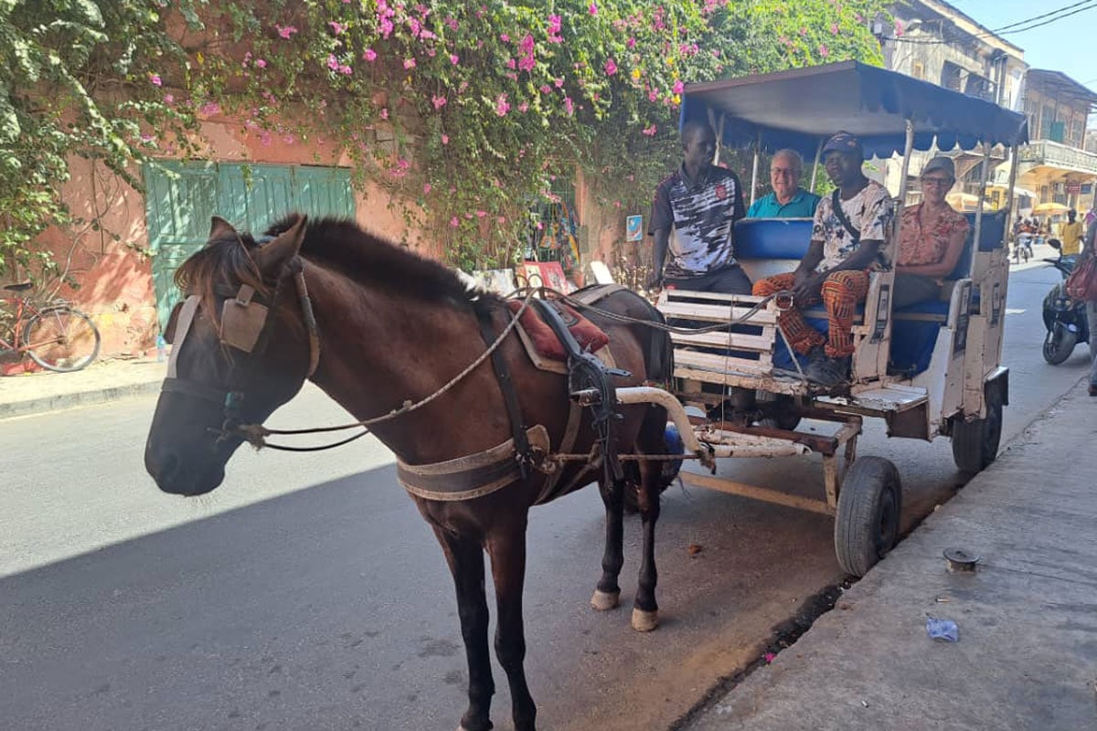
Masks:
[[[36,304],[19,293],[30,282],[4,285],[12,293],[0,298],[0,361],[29,356],[47,370],[72,373],[87,368],[99,355],[99,329],[91,318],[65,300]]]

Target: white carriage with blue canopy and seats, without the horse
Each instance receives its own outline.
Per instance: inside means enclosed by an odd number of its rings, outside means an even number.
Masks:
[[[945,152],[959,148],[963,155],[962,149],[976,148],[982,192],[992,161],[1000,160],[993,149],[1005,146],[1016,160],[1017,146],[1026,141],[1019,114],[855,61],[687,87],[682,122],[695,118],[713,124],[725,145],[754,147],[755,178],[760,151],[796,149],[807,159],[814,156],[817,167],[824,140],[838,128],[850,132],[867,153],[903,156],[898,207],[907,197],[913,150],[934,146]],[[697,441],[687,436],[689,446],[704,449],[754,437],[753,453],[758,454],[764,449],[757,437],[764,437],[781,455],[789,443],[801,445],[822,455],[825,500],[703,475],[687,473],[687,481],[834,515],[838,560],[849,573],[862,575],[893,545],[902,504],[898,475],[890,461],[855,460],[862,419],[885,420],[889,436],[949,436],[955,464],[965,472],[995,458],[1009,396],[1008,369],[999,364],[1008,215],[982,207],[969,214],[971,233],[945,278],[940,300],[893,310],[894,273],[885,267],[871,275],[853,327],[851,382],[841,389],[819,388],[804,377],[801,358],[777,327],[780,300],[771,299],[747,317],[761,298],[666,293],[659,309],[671,323],[728,323],[721,332],[672,335],[675,395],[704,414],[691,418]],[[901,218],[895,216],[883,248],[887,262],[894,260]],[[811,226],[810,219],[739,220],[736,259],[753,281],[791,271],[807,250]],[[805,315],[825,331],[826,312]],[[801,418],[838,429],[829,436],[793,431]]]

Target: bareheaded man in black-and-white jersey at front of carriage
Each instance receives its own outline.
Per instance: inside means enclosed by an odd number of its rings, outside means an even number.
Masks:
[[[733,238],[735,221],[746,214],[739,179],[712,164],[716,135],[704,122],[682,126],[682,152],[681,168],[655,189],[648,287],[749,295],[750,279],[735,262]]]

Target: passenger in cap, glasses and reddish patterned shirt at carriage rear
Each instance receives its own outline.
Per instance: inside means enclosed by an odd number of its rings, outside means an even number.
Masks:
[[[921,169],[921,203],[903,209],[893,307],[941,296],[941,279],[955,269],[968,239],[968,219],[946,201],[955,183],[952,159],[938,156]]]

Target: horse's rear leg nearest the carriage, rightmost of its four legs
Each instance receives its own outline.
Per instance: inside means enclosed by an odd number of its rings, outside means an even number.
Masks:
[[[646,454],[666,452],[664,432],[667,412],[661,408],[648,409],[640,427],[636,446]],[[640,563],[640,581],[632,609],[633,629],[649,632],[659,625],[659,605],[655,602],[658,572],[655,569],[655,524],[659,519],[659,472],[663,464],[655,460],[640,462],[640,517],[643,523],[644,548]]]

